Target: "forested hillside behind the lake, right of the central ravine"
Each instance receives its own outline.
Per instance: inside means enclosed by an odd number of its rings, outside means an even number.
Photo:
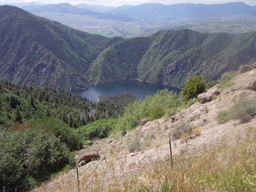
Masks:
[[[183,87],[193,75],[201,74],[210,81],[255,61],[256,33],[161,30],[150,37],[120,41],[105,49],[87,74],[90,82],[97,84],[130,77]]]

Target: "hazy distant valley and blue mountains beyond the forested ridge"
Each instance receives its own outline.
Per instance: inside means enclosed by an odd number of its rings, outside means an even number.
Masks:
[[[35,15],[107,37],[150,36],[158,30],[189,28],[199,32],[242,33],[256,30],[256,6],[226,4],[141,4],[105,7],[68,3],[14,4]]]

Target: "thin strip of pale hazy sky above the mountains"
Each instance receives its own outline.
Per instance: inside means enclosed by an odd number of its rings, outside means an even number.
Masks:
[[[161,3],[165,5],[177,4],[177,3],[203,3],[203,4],[222,4],[228,2],[241,2],[241,0],[0,0],[0,3],[19,3],[19,2],[38,2],[41,4],[53,4],[53,3],[70,3],[70,4],[100,4],[105,6],[121,6],[121,5],[138,5],[143,3]],[[244,0],[245,4],[250,6],[256,5],[256,0]]]

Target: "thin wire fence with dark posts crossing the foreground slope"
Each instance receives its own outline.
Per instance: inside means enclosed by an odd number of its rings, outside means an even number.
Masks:
[[[252,105],[252,106],[250,106],[250,107],[254,107],[254,106],[256,106],[256,104],[255,104],[255,105]],[[235,113],[239,113],[239,112],[244,111],[244,110],[246,110],[246,109],[248,109],[248,108],[250,108],[250,107],[247,107],[247,108],[242,109],[242,110],[240,110],[240,111],[236,111]],[[221,119],[221,118],[224,118],[224,117],[233,115],[233,114],[235,114],[235,113],[232,113],[232,114],[229,114],[229,115],[225,115],[225,116],[223,116],[223,117],[219,117],[219,118],[216,118],[216,119]],[[239,119],[237,119],[237,120],[243,119],[243,118],[245,118],[245,117],[249,117],[249,116],[254,115],[254,114],[256,114],[256,112],[251,113],[251,114],[249,114],[249,115],[246,115],[246,116],[244,116],[244,117],[241,117],[241,118],[239,118]],[[189,127],[189,128],[185,128],[185,129],[182,129],[182,130],[178,130],[178,131],[176,131],[176,132],[172,132],[172,134],[177,133],[177,132],[181,132],[181,131],[183,131],[183,130],[188,130],[188,129],[194,128],[194,127],[196,127],[196,126],[191,126],[191,127]],[[173,141],[171,141],[171,142],[175,142],[175,141],[177,141],[177,140],[179,140],[179,139],[173,140]],[[187,156],[183,156],[183,157],[181,157],[181,158],[177,158],[177,159],[175,159],[175,160],[172,161],[172,162],[176,162],[176,161],[181,160],[181,159],[183,159],[183,158],[188,158],[189,156],[192,156],[192,155],[195,156],[195,155],[197,155],[197,154],[201,154],[202,152],[205,152],[205,151],[208,151],[208,150],[209,150],[209,149],[203,149],[203,150],[201,150],[201,151],[199,151],[199,152],[196,152],[196,153],[193,152],[192,154],[188,154]],[[83,165],[83,166],[85,166],[85,165]],[[82,167],[82,166],[80,166],[80,167]],[[72,169],[75,169],[75,168],[77,168],[77,166],[76,166],[76,167],[73,167],[73,168],[70,168],[70,169],[66,170],[65,172],[71,171]],[[60,172],[60,173],[61,173],[61,172]],[[60,174],[60,173],[51,174],[51,175],[49,175],[49,176],[47,176],[47,177],[43,177],[43,178],[41,178],[41,179],[38,179],[38,180],[36,180],[35,182],[41,181],[41,180],[43,180],[43,179],[47,179],[47,178],[49,178],[49,177],[53,177],[53,176],[58,175],[58,174]],[[78,179],[78,173],[77,173],[77,179]],[[79,182],[79,180],[77,180],[77,181]],[[28,185],[28,184],[32,184],[32,183],[22,184],[22,185],[20,185],[20,186],[16,186],[16,187],[10,188],[10,189],[8,189],[8,190],[5,190],[5,188],[3,188],[3,192],[8,192],[8,191],[13,190],[13,189],[15,189],[15,191],[17,191],[17,188],[20,188],[20,187],[22,187],[22,186],[26,186],[26,185]],[[38,191],[38,190],[35,190],[35,191]]]

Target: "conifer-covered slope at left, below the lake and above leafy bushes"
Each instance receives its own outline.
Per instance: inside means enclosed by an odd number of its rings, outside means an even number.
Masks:
[[[68,90],[0,82],[0,124],[52,116],[77,128],[98,119],[118,117],[123,111],[114,102],[94,103]]]

